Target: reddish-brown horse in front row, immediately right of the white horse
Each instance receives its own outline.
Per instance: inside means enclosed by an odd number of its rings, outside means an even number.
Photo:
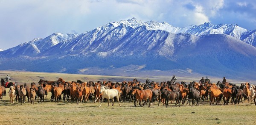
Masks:
[[[136,107],[136,101],[140,100],[140,106],[144,106],[148,103],[147,99],[149,100],[149,104],[148,104],[148,108],[150,107],[151,104],[151,100],[153,97],[153,92],[149,89],[146,90],[142,90],[140,87],[138,86],[134,86],[132,88],[132,94],[135,94],[136,96],[136,100],[134,100],[134,106]],[[143,105],[141,105],[142,100],[145,100],[145,102],[143,103]]]

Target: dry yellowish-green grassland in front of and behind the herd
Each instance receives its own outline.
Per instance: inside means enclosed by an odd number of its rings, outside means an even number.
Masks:
[[[63,77],[67,81],[76,79],[82,80],[122,80],[128,77],[113,76],[90,76],[90,75],[70,75],[39,72],[2,72],[0,78],[9,74],[14,81],[20,83],[30,83],[39,81],[38,78],[47,80],[57,80]],[[143,79],[143,78],[141,78]],[[157,79],[155,79],[157,80]],[[8,91],[9,89],[7,89]],[[50,94],[44,103],[10,104],[8,95],[0,100],[0,124],[1,125],[84,125],[84,124],[103,124],[103,125],[255,125],[256,124],[256,106],[253,103],[240,103],[239,105],[210,106],[209,101],[200,102],[200,106],[181,105],[175,107],[175,104],[166,108],[153,105],[150,108],[134,107],[133,102],[117,103],[108,107],[103,103],[86,102],[49,102]]]

